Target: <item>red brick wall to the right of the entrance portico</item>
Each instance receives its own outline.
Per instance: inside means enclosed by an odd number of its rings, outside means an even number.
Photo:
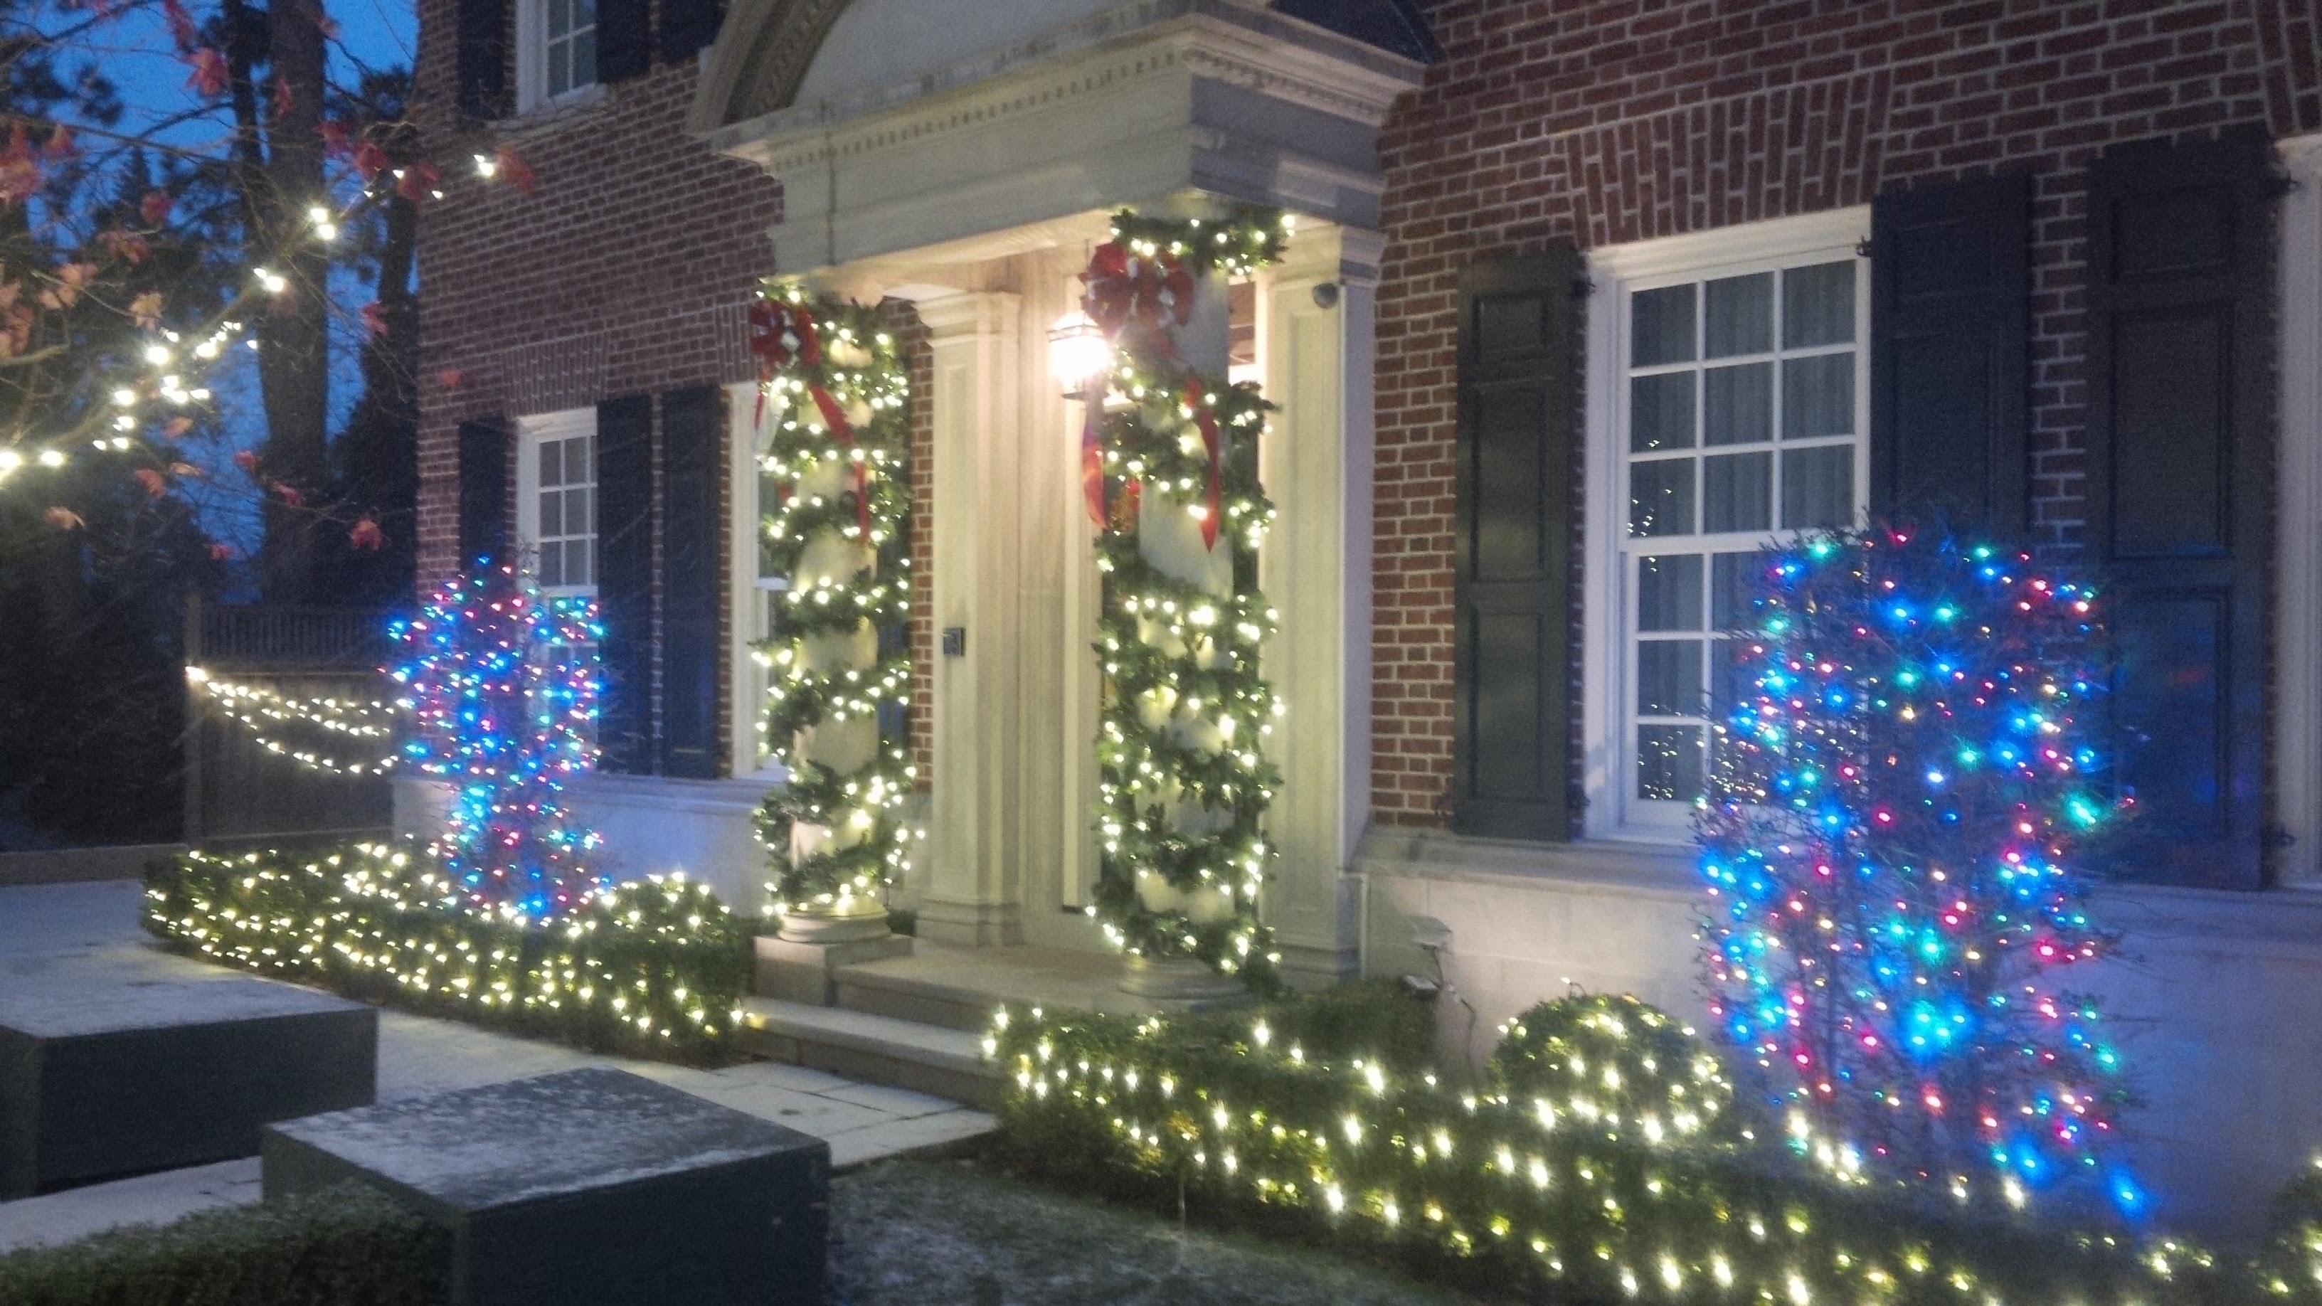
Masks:
[[[2034,534],[2069,548],[2083,516],[2081,249],[2097,151],[2229,123],[2264,123],[2276,137],[2322,128],[2313,0],[1426,9],[1447,58],[1382,139],[1372,811],[1398,825],[1442,823],[1451,781],[1465,265],[1558,237],[1621,244],[2025,170]]]

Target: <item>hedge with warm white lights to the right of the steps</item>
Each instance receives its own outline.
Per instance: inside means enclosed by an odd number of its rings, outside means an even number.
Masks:
[[[2257,1264],[2060,1232],[1800,1164],[1735,1120],[1707,1043],[1637,999],[1542,1004],[1461,1092],[1379,1053],[1286,1041],[1279,1013],[996,1016],[1003,1141],[1033,1167],[1142,1181],[1228,1215],[1451,1257],[1495,1292],[1769,1306],[2322,1301],[2315,1201]],[[1611,1074],[1607,1074],[1611,1071]],[[2322,1181],[2315,1192],[2322,1194]],[[2299,1222],[2303,1220],[2303,1222]],[[2315,1246],[2306,1246],[2313,1239]]]

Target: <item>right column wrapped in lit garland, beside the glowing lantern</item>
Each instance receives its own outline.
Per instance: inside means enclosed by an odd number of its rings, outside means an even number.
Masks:
[[[1082,442],[1105,574],[1096,906],[1140,992],[1198,988],[1170,974],[1187,960],[1265,988],[1279,960],[1259,920],[1279,783],[1261,741],[1282,711],[1259,676],[1275,620],[1256,586],[1272,521],[1256,474],[1265,402],[1182,358],[1173,330],[1221,297],[1224,277],[1277,260],[1286,235],[1277,214],[1124,211],[1082,274],[1082,309],[1115,346]]]

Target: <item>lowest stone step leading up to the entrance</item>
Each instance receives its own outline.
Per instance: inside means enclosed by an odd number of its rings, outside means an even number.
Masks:
[[[743,999],[741,1048],[776,1062],[908,1088],[994,1111],[998,1067],[982,1034],[778,997]]]

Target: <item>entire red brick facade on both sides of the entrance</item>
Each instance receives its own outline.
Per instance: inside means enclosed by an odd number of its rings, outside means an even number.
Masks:
[[[1451,0],[1444,58],[1382,139],[1372,809],[1442,820],[1451,772],[1454,335],[1474,260],[2034,174],[2034,523],[2081,521],[2085,172],[2113,142],[2322,128],[2310,0]],[[748,376],[741,307],[780,195],[685,135],[692,60],[553,121],[462,135],[453,5],[420,5],[420,114],[446,198],[423,216],[420,572],[455,546],[455,428]],[[485,186],[511,142],[539,193]],[[915,379],[926,383],[924,349]],[[913,500],[931,504],[924,409]],[[1579,483],[1579,479],[1574,479]],[[1579,514],[1574,514],[1574,521]],[[931,706],[931,555],[913,541],[913,718]],[[1579,613],[1574,613],[1574,623]],[[1574,679],[1574,697],[1579,686]],[[915,732],[922,778],[929,755]]]

